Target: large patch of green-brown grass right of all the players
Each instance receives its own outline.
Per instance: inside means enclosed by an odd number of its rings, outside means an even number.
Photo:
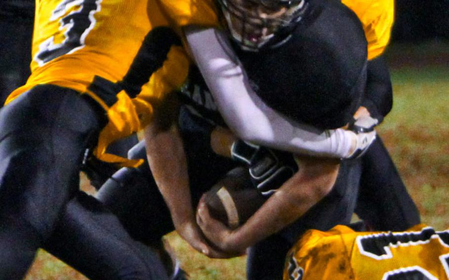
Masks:
[[[449,69],[392,70],[394,105],[379,134],[423,222],[449,227]]]

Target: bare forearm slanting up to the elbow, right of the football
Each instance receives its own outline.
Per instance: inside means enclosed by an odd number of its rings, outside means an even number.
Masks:
[[[261,209],[232,233],[231,246],[246,248],[279,232],[332,190],[338,174],[337,162],[307,161],[300,164],[299,172],[284,183]]]

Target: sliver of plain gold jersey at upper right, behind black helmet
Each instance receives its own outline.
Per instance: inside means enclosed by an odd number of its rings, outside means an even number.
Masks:
[[[394,21],[394,0],[342,0],[362,22],[368,41],[368,60],[381,55],[387,46]]]

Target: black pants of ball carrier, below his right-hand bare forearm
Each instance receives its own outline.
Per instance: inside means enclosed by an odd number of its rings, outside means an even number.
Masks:
[[[360,175],[360,159],[342,161],[337,181],[326,197],[293,224],[249,249],[247,278],[281,280],[287,253],[306,230],[327,231],[337,224],[349,224],[355,211]]]

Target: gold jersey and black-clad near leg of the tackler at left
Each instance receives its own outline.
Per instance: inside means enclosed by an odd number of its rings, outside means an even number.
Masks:
[[[83,200],[83,162],[141,162],[106,148],[147,126],[153,107],[187,76],[187,56],[169,22],[149,18],[149,11],[162,14],[154,2],[48,0],[37,1],[36,11],[32,73],[0,110],[1,279],[22,278],[71,210],[69,201],[76,208]],[[162,79],[164,87],[154,87]],[[114,237],[117,258],[110,265],[129,267],[127,274],[95,271],[93,278],[167,278],[154,252],[124,232]]]

